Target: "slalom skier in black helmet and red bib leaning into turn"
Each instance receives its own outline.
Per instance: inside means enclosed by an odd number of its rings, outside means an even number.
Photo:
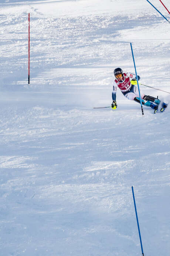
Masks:
[[[137,85],[133,85],[131,83],[131,81],[136,81],[136,75],[130,72],[123,73],[123,70],[121,68],[116,68],[114,70],[114,76],[115,76],[115,81],[113,82],[113,92],[112,92],[113,102],[111,105],[112,109],[117,108],[116,90],[118,87],[127,99],[140,103],[139,91],[138,91]],[[137,78],[139,81],[140,76],[137,76]],[[141,93],[141,98],[142,98],[143,105],[149,106],[152,109],[154,109],[154,113],[157,112],[158,105],[160,104],[160,100],[158,98],[154,98],[152,96],[145,95],[143,93]],[[167,107],[167,104],[163,102],[161,112],[163,112],[166,107]]]

